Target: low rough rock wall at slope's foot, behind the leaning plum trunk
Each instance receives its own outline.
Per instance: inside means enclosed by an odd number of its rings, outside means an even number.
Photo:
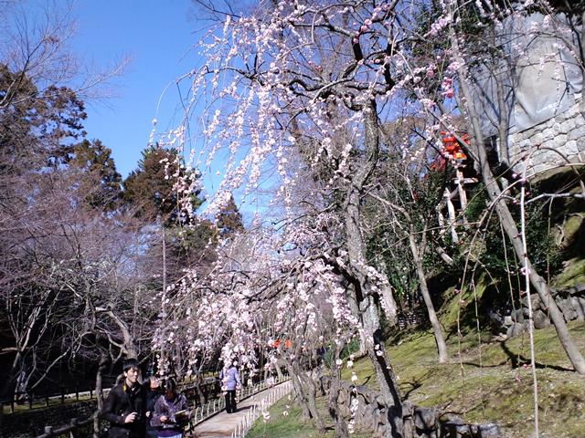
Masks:
[[[324,389],[328,389],[330,380],[328,378],[322,378],[322,380]],[[373,438],[384,436],[389,427],[388,406],[378,391],[342,382],[337,403],[339,412],[346,421],[353,421],[358,428],[371,432]],[[441,414],[437,409],[421,408],[408,402],[403,408],[407,437],[500,438],[502,436],[495,423],[469,424],[456,416]]]

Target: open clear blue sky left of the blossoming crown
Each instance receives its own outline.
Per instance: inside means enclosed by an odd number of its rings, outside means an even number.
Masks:
[[[78,32],[71,44],[93,68],[105,68],[130,56],[121,78],[113,81],[114,97],[92,100],[85,122],[89,139],[112,149],[118,172],[126,177],[141,157],[158,120],[159,130],[176,126],[176,87],[165,87],[197,62],[194,45],[202,22],[193,19],[190,0],[78,0]]]

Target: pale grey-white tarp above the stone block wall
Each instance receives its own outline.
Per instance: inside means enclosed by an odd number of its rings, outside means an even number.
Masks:
[[[580,29],[578,29],[578,32]],[[509,16],[497,31],[500,45],[497,68],[483,65],[474,71],[473,99],[482,114],[484,135],[495,135],[500,118],[509,117],[508,133],[527,130],[568,110],[580,93],[583,78],[577,57],[578,35],[567,16],[553,19],[534,13]],[[501,80],[504,108],[498,105]]]

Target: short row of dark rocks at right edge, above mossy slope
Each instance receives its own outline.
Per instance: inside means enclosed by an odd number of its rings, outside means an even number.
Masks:
[[[559,310],[565,321],[585,320],[585,285],[569,287],[566,289],[551,289]],[[545,328],[550,325],[547,306],[540,300],[538,294],[530,294],[532,302],[532,315],[535,328]],[[528,297],[522,299],[522,307],[512,312],[512,315],[504,318],[506,336],[508,338],[519,335],[528,329]]]

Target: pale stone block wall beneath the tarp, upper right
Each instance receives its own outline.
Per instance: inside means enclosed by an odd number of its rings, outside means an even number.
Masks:
[[[585,120],[580,113],[580,99],[557,117],[510,135],[508,145],[507,158],[516,173],[523,172],[522,157],[527,157],[528,178],[565,163],[555,151],[563,153],[571,162],[585,162]]]

